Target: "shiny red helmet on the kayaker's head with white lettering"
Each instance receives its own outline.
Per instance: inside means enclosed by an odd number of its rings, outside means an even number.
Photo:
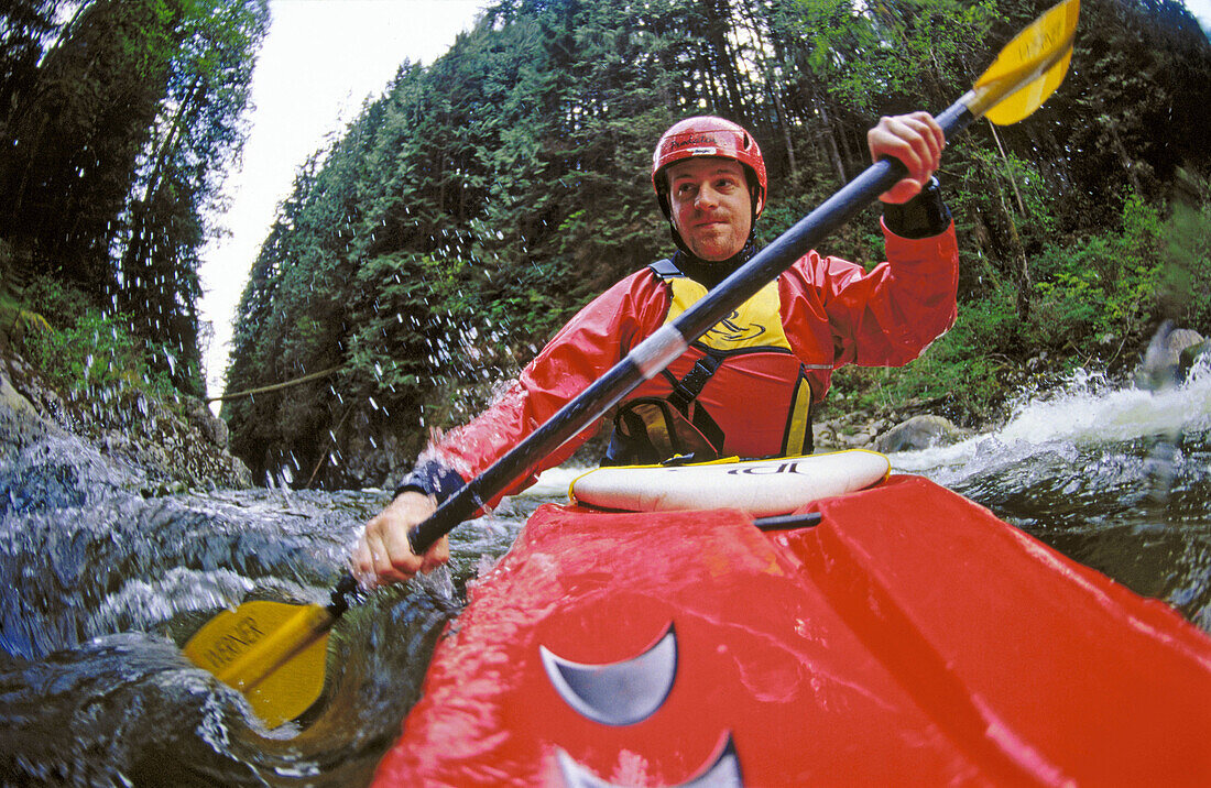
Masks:
[[[694,156],[734,159],[748,169],[754,184],[752,197],[756,222],[765,207],[768,189],[765,160],[762,159],[761,148],[757,146],[752,134],[739,123],[711,115],[687,117],[673,123],[656,143],[656,151],[652,155],[652,185],[656,190],[656,200],[665,215],[668,217],[672,208],[668,205],[668,185],[662,183],[661,173],[668,165]]]

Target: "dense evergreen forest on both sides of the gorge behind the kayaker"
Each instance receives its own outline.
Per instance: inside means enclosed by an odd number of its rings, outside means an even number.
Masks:
[[[671,253],[649,168],[672,122],[714,114],[756,134],[768,242],[869,163],[880,115],[941,111],[1049,5],[487,4],[300,162],[237,310],[226,392],[257,393],[224,403],[234,450],[258,478],[381,483],[589,299]],[[197,243],[264,7],[22,7],[0,53],[5,259],[53,271],[196,389]],[[828,407],[987,418],[1040,358],[1127,364],[1166,318],[1211,333],[1207,128],[1211,44],[1186,7],[1084,0],[1060,91],[948,146],[959,322],[908,368],[839,375]],[[878,215],[821,252],[879,261]]]

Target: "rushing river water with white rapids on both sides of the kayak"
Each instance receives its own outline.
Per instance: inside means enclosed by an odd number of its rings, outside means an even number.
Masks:
[[[1146,391],[1074,376],[1006,425],[891,456],[1211,632],[1211,370]],[[466,586],[574,468],[465,524],[442,569],[367,594],[334,628],[325,696],[266,731],[179,645],[247,598],[325,603],[380,490],[144,499],[69,438],[2,468],[4,784],[365,784]]]

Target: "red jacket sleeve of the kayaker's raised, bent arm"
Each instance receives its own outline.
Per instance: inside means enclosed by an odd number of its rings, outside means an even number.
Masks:
[[[941,235],[905,238],[883,228],[886,263],[869,272],[815,252],[781,280],[792,350],[814,370],[822,399],[831,372],[846,363],[897,367],[954,324],[959,252],[954,224]]]

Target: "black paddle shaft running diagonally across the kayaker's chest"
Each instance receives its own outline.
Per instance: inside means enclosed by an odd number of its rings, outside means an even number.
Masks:
[[[964,97],[966,98],[966,97]],[[937,116],[947,139],[975,120],[963,99]],[[908,169],[896,159],[884,159],[866,168],[820,207],[780,235],[745,265],[637,345],[602,378],[563,405],[543,426],[493,462],[483,473],[447,499],[429,519],[408,531],[408,543],[418,556],[516,481],[529,476],[547,456],[589,427],[644,380],[656,375],[681,356],[712,326],[752,298],[767,282],[849,222],[872,200],[894,186]]]

